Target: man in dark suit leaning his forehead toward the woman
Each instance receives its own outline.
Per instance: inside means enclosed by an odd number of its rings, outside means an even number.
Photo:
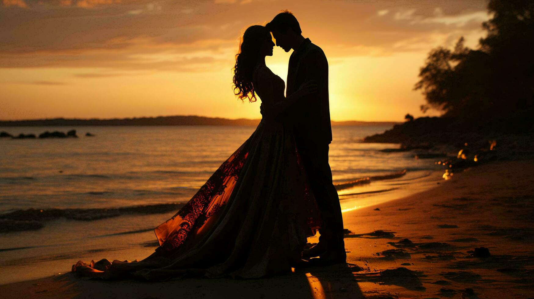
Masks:
[[[332,141],[328,61],[321,48],[302,36],[299,21],[293,13],[282,11],[265,27],[272,33],[277,46],[286,52],[293,49],[289,58],[286,96],[308,81],[316,81],[318,85],[316,94],[290,107],[285,115],[293,125],[297,149],[323,219],[319,242],[304,251],[304,257],[319,256],[310,261],[321,265],[345,263],[341,207],[328,164],[328,147]]]

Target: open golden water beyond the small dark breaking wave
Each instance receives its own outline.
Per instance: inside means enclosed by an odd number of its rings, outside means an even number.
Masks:
[[[71,128],[0,128],[35,133]],[[186,202],[254,127],[81,127],[78,139],[0,140],[0,212]],[[334,127],[337,182],[402,169],[430,169],[392,144],[358,141],[388,127]],[[95,137],[85,137],[85,132]]]

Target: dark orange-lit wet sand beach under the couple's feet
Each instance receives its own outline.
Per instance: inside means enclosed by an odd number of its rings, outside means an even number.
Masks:
[[[0,286],[5,298],[534,297],[534,161],[488,163],[431,190],[343,214],[348,265],[258,280],[80,280]],[[310,238],[315,242],[316,237]],[[475,247],[488,248],[488,253]],[[113,256],[102,253],[101,256]],[[216,254],[216,253],[214,253]]]

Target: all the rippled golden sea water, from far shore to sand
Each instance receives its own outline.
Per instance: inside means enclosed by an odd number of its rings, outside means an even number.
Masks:
[[[0,139],[0,214],[25,209],[116,208],[188,201],[254,127],[15,127],[12,135],[76,129],[77,139]],[[364,144],[389,127],[334,127],[336,183],[407,169],[396,179],[339,191],[344,211],[433,186],[434,161]],[[85,137],[86,132],[95,137]],[[176,210],[79,221],[56,217],[38,230],[0,233],[0,284],[70,270],[78,259],[142,259],[157,247],[152,229]],[[119,213],[121,214],[121,213]],[[32,221],[31,218],[23,219]],[[9,275],[7,275],[9,273]]]

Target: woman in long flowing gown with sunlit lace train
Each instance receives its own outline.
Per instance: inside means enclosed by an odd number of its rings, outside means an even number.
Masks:
[[[285,98],[284,80],[265,66],[273,47],[265,27],[245,31],[234,67],[234,92],[251,102],[257,93],[263,119],[197,194],[156,227],[160,247],[139,262],[78,261],[72,271],[104,279],[166,280],[184,274],[260,278],[290,271],[301,261],[306,238],[315,234],[320,219],[292,132],[278,116],[317,86],[308,82]]]

